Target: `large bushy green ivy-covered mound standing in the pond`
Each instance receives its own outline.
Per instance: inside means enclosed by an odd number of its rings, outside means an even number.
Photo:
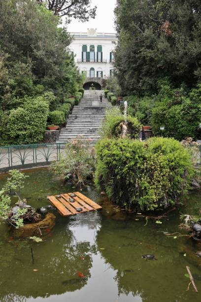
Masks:
[[[172,138],[103,139],[97,156],[96,185],[127,210],[176,204],[193,175],[188,152]]]

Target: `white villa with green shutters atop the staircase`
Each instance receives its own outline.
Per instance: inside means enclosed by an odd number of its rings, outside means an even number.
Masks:
[[[86,78],[109,78],[113,72],[113,51],[117,34],[97,33],[88,29],[87,33],[70,33],[74,37],[69,46],[75,62]]]

